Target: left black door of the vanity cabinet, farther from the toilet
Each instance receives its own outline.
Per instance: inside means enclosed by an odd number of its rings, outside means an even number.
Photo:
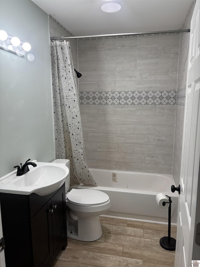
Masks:
[[[48,225],[51,218],[49,206],[51,206],[50,200],[31,218],[34,267],[45,266],[51,257],[49,244],[52,242],[49,239],[52,234],[49,233]]]

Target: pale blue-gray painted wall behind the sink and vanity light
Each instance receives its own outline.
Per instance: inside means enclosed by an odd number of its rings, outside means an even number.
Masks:
[[[30,0],[0,0],[0,29],[35,60],[0,49],[0,177],[28,158],[54,159],[48,15]]]

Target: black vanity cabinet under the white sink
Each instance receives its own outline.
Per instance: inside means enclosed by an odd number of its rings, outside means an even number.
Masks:
[[[6,267],[50,267],[67,247],[65,184],[47,196],[0,193]]]

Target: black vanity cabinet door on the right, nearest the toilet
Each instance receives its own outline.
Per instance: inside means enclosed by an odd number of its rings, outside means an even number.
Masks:
[[[64,235],[67,232],[65,186],[51,198],[53,208],[52,232],[53,232],[53,253],[56,251]]]

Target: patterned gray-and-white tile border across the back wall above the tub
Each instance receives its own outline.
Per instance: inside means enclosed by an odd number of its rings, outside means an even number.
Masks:
[[[176,91],[79,92],[80,105],[175,105]]]

